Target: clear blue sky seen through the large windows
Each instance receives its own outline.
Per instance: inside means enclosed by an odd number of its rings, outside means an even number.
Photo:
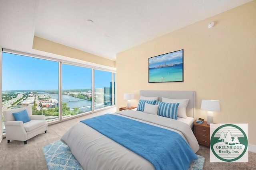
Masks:
[[[58,62],[2,53],[2,91],[57,90]],[[95,88],[110,87],[112,73],[95,70]],[[92,69],[62,64],[62,89],[92,88]]]

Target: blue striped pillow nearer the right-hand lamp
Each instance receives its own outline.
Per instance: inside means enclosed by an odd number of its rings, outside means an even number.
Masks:
[[[164,103],[164,102],[158,101],[156,104],[159,105],[158,115],[164,116],[164,117],[170,117],[172,119],[178,119],[177,110],[178,110],[179,103]]]

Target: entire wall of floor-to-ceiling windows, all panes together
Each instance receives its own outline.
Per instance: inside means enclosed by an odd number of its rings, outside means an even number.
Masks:
[[[33,114],[52,121],[114,105],[115,73],[62,62],[3,52],[2,111],[31,106]]]

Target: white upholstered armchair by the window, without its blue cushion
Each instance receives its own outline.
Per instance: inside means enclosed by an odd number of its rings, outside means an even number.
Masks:
[[[23,123],[22,121],[16,121],[13,114],[14,112],[22,111],[26,109],[31,121]],[[18,109],[6,110],[4,113],[4,125],[6,129],[7,143],[10,140],[24,141],[27,144],[27,140],[47,131],[47,122],[44,115],[32,115],[32,107],[21,107]]]

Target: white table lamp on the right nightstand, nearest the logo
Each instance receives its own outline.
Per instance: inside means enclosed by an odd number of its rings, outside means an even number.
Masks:
[[[220,111],[220,101],[218,100],[202,100],[201,109],[208,110],[207,112],[207,124],[213,123],[213,112]]]

